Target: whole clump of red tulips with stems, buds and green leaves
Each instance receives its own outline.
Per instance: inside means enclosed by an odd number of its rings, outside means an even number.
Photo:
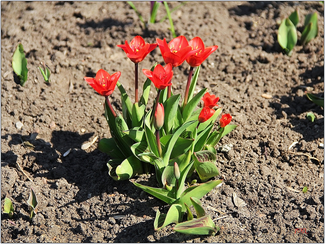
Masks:
[[[201,63],[212,54],[218,46],[205,47],[200,37],[187,41],[178,36],[169,43],[165,39],[156,39],[157,43],[145,43],[136,36],[130,44],[125,41],[121,47],[126,56],[135,65],[135,102],[132,103],[119,82],[121,72],[109,74],[99,70],[95,78],[85,77],[101,96],[105,97],[105,116],[111,138],[103,138],[98,144],[99,150],[107,153],[110,160],[107,165],[109,175],[114,180],[126,180],[143,173],[155,172],[158,187],[134,185],[147,193],[171,205],[166,214],[159,210],[154,221],[155,230],[175,223],[173,228],[185,234],[215,235],[219,227],[210,215],[205,215],[199,199],[210,192],[222,180],[211,180],[219,175],[216,165],[216,149],[220,139],[235,129],[230,114],[223,114],[217,129],[215,121],[221,108],[219,97],[201,89],[194,95]],[[148,77],[143,83],[143,93],[138,97],[138,63],[141,62],[157,45],[160,48],[165,66],[155,64],[151,70],[143,69]],[[173,68],[184,61],[189,64],[189,74],[185,94],[172,91]],[[193,75],[194,67],[196,70]],[[157,96],[152,106],[148,104],[151,82]],[[111,106],[109,96],[115,86],[120,90],[122,115],[117,115]],[[198,104],[202,102],[202,107]],[[187,179],[196,171],[201,183],[191,183]],[[156,186],[156,185],[155,185]],[[193,205],[196,217],[189,207]],[[187,221],[183,215],[187,212]]]

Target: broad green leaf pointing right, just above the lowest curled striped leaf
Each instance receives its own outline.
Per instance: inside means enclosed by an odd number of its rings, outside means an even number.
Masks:
[[[190,186],[185,189],[182,193],[180,199],[177,199],[173,204],[182,204],[182,212],[185,212],[186,208],[184,203],[187,205],[191,205],[190,197],[196,197],[201,199],[201,197],[205,196],[208,192],[210,192],[215,186],[219,185],[222,180],[212,180],[205,183],[201,183],[196,186]]]

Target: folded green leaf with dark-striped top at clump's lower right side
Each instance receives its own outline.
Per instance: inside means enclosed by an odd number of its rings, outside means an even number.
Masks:
[[[216,166],[216,156],[211,151],[199,151],[194,153],[194,166],[202,182],[219,175]]]

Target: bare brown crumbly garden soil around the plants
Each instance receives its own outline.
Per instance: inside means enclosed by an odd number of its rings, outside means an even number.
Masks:
[[[149,2],[134,4],[146,21]],[[316,11],[319,34],[288,57],[277,32],[296,8],[298,31],[304,16]],[[164,15],[161,5],[157,19]],[[121,71],[133,100],[134,65],[116,45],[136,35],[169,41],[168,19],[145,30],[126,2],[1,2],[1,206],[8,197],[15,208],[12,220],[1,213],[1,242],[324,242],[324,110],[305,96],[324,92],[323,4],[187,2],[173,19],[177,35],[219,46],[202,64],[197,91],[208,87],[239,125],[217,145],[233,145],[217,155],[225,180],[201,199],[212,219],[227,215],[215,221],[220,232],[183,235],[174,225],[155,232],[156,210],[165,213],[168,206],[130,181],[112,180],[109,157],[97,149],[110,132],[104,99],[84,76]],[[28,60],[25,87],[14,82],[11,68],[19,42]],[[41,61],[52,71],[50,85],[38,70]],[[139,70],[155,61],[163,64],[158,47]],[[174,69],[174,93],[183,96],[188,70],[186,63]],[[142,72],[139,80],[142,87]],[[151,102],[154,96],[152,89]],[[110,100],[121,113],[118,89]],[[155,175],[135,180],[155,184]],[[31,187],[39,206],[29,221]],[[247,205],[237,208],[233,192]]]

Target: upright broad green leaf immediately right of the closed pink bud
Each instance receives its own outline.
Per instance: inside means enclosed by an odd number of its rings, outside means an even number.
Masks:
[[[181,98],[180,94],[171,96],[167,99],[167,101],[164,104],[164,111],[165,111],[164,128],[166,134],[172,133],[180,98]]]

